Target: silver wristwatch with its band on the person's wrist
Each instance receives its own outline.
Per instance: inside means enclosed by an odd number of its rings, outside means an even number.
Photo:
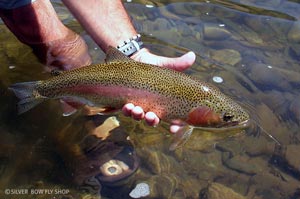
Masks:
[[[143,48],[143,42],[140,34],[133,36],[117,46],[117,49],[128,57],[139,51],[141,48]]]

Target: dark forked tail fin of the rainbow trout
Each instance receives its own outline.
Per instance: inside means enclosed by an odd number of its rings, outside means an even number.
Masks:
[[[18,113],[22,114],[39,103],[44,101],[44,98],[35,94],[35,87],[40,81],[16,83],[9,87],[15,95],[20,99],[18,102]]]

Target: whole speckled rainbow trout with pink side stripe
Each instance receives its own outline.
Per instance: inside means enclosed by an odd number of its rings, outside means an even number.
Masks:
[[[217,87],[188,74],[134,61],[113,47],[105,61],[59,72],[46,80],[11,85],[9,89],[20,99],[19,114],[48,99],[109,110],[133,103],[167,123],[180,121],[182,128],[176,133],[172,150],[183,145],[194,128],[244,127],[249,121],[241,105]]]

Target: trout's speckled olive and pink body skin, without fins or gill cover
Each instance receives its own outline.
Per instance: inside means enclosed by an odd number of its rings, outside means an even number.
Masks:
[[[189,113],[197,107],[208,107],[221,117],[220,122],[226,122],[224,114],[238,123],[249,119],[239,104],[208,83],[171,69],[129,60],[63,72],[38,81],[33,93],[39,99],[74,98],[92,106],[116,109],[133,103],[167,122],[188,121]]]

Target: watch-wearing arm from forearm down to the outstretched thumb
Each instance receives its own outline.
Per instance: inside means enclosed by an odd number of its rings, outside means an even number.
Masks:
[[[63,0],[94,41],[106,52],[137,34],[121,0]],[[177,58],[157,56],[143,48],[131,57],[140,62],[183,71],[196,59],[193,52]]]

